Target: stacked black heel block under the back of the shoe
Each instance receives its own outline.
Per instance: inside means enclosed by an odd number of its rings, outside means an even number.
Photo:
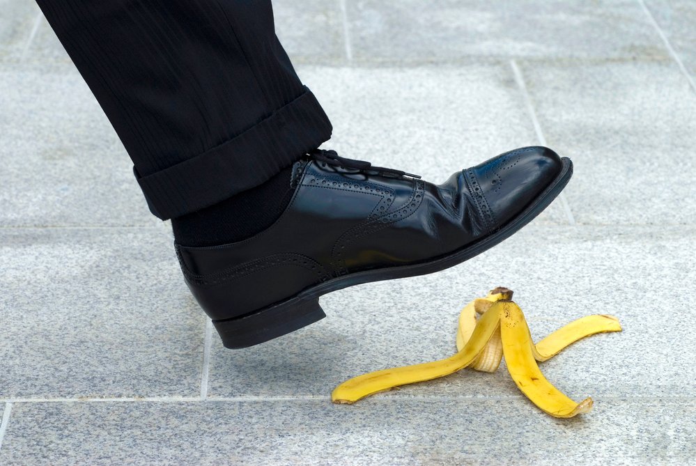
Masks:
[[[326,317],[318,298],[291,300],[240,318],[213,320],[225,348],[258,345]]]

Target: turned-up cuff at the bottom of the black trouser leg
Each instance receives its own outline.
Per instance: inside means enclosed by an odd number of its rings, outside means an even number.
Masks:
[[[331,123],[309,88],[236,137],[185,162],[135,178],[160,219],[201,210],[261,185],[331,137]]]

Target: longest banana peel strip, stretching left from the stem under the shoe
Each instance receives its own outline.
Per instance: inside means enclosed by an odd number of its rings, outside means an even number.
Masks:
[[[334,389],[331,399],[334,403],[355,403],[360,398],[376,394],[400,385],[432,380],[449,375],[465,368],[484,349],[490,336],[498,331],[500,309],[498,302],[493,303],[477,322],[471,338],[456,355],[435,362],[397,367],[359,375]]]

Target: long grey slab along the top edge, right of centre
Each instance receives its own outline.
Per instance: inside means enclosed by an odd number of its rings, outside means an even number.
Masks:
[[[348,1],[357,61],[666,57],[635,1]]]

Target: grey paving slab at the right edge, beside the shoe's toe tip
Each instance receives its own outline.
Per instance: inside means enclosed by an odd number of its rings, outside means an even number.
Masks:
[[[548,144],[575,164],[575,220],[696,223],[696,94],[674,63],[520,68]]]

